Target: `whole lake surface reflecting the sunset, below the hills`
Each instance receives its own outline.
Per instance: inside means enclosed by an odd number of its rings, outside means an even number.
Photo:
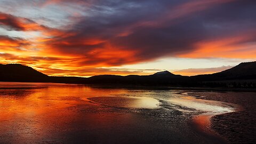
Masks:
[[[253,143],[255,97],[1,82],[0,143]]]

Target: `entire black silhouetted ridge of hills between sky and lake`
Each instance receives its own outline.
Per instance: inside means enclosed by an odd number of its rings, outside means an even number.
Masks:
[[[47,76],[31,67],[20,64],[0,65],[0,81],[4,82],[52,82],[145,86],[208,86],[207,83],[218,83],[219,86],[223,86],[229,85],[227,82],[223,81],[251,81],[252,79],[256,82],[256,62],[242,62],[233,68],[219,73],[197,76],[175,75],[165,70],[145,76],[98,75],[89,78]],[[250,83],[249,85],[253,84]]]

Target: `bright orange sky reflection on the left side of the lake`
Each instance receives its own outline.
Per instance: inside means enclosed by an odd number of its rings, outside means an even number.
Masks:
[[[69,132],[109,127],[117,119],[131,119],[129,114],[109,113],[108,108],[83,100],[124,92],[83,85],[1,82],[1,142],[54,142]]]

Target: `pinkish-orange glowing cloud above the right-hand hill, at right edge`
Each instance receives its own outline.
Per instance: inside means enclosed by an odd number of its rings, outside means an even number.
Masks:
[[[195,43],[195,51],[180,54],[182,58],[241,58],[255,59],[256,44],[254,41],[256,31],[251,30],[237,36],[216,38]]]

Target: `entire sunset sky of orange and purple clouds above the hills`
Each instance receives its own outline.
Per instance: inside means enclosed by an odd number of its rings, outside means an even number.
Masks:
[[[256,61],[255,0],[0,0],[2,64],[190,76],[247,61]]]

